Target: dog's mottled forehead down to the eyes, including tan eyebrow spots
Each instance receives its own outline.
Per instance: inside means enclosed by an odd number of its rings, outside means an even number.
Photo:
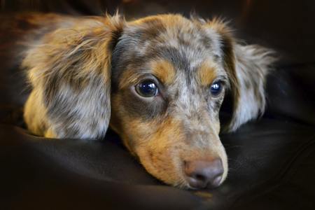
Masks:
[[[181,15],[156,15],[125,27],[113,52],[113,76],[154,72],[163,82],[197,84],[195,78],[206,76],[202,82],[208,83],[214,66],[222,69],[220,55],[221,41],[214,30]]]

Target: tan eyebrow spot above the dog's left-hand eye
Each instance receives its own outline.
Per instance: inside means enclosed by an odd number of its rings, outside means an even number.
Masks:
[[[165,59],[161,59],[158,61],[155,60],[151,62],[151,68],[153,75],[161,80],[163,84],[169,85],[174,81],[176,71],[171,62]]]

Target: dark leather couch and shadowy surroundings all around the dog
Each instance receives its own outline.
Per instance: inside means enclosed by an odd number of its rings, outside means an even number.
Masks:
[[[27,85],[7,50],[12,37],[0,31],[0,209],[315,209],[314,1],[1,1],[2,13],[100,15],[117,7],[128,18],[223,15],[239,37],[278,52],[265,115],[221,135],[228,180],[215,190],[165,186],[113,132],[103,141],[29,134],[21,111]]]

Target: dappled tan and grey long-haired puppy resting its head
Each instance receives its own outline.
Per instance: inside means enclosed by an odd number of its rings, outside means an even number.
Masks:
[[[102,139],[111,127],[157,179],[216,188],[228,175],[228,132],[265,110],[272,50],[241,44],[217,18],[28,15],[22,50],[31,93],[27,128],[48,138]]]

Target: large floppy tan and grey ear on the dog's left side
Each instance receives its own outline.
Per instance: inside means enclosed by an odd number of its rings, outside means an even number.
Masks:
[[[25,105],[31,132],[45,137],[104,137],[111,116],[111,53],[123,30],[118,15],[62,17],[61,29],[31,46],[22,66],[32,91]]]

